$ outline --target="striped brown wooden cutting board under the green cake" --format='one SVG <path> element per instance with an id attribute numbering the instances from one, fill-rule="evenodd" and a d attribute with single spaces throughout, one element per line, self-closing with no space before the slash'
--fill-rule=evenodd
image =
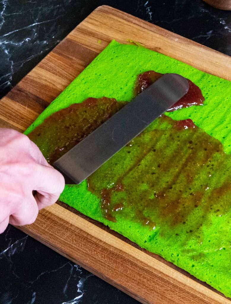
<path id="1" fill-rule="evenodd" d="M 112 39 L 137 41 L 230 80 L 228 56 L 100 6 L 2 98 L 0 127 L 23 132 Z M 209 285 L 62 202 L 41 210 L 34 224 L 19 229 L 142 303 L 231 303 Z"/>

